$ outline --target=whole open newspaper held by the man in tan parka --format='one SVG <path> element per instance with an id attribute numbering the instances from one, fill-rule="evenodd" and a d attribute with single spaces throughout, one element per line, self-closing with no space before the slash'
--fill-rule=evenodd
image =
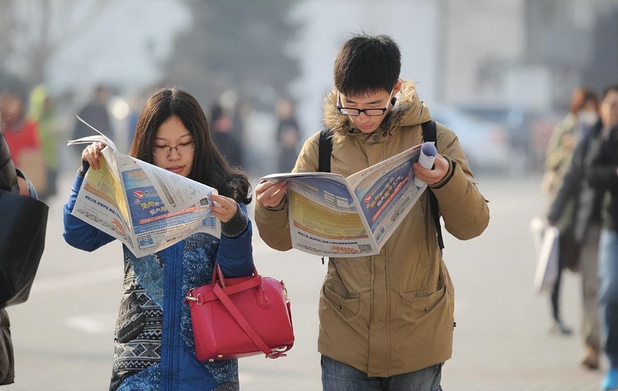
<path id="1" fill-rule="evenodd" d="M 425 144 L 435 149 L 433 143 Z M 427 187 L 423 182 L 415 183 L 412 167 L 422 146 L 413 146 L 347 178 L 330 172 L 263 177 L 289 183 L 292 246 L 320 256 L 379 254 Z"/>

